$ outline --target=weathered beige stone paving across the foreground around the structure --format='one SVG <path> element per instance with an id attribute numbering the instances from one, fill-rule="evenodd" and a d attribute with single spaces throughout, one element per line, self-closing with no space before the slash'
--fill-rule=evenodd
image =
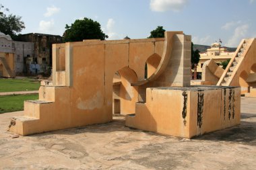
<path id="1" fill-rule="evenodd" d="M 32 136 L 6 132 L 0 114 L 0 169 L 256 169 L 256 99 L 242 97 L 240 126 L 188 140 L 108 124 Z"/>

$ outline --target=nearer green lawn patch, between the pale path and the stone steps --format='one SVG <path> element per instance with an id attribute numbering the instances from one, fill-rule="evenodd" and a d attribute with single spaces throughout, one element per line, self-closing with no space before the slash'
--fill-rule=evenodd
<path id="1" fill-rule="evenodd" d="M 34 99 L 38 99 L 38 94 L 0 96 L 0 114 L 24 110 L 24 101 Z"/>

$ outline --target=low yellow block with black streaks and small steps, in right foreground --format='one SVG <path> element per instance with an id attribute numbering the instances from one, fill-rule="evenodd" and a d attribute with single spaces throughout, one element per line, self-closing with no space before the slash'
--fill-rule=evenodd
<path id="1" fill-rule="evenodd" d="M 191 138 L 240 124 L 239 87 L 158 87 L 126 116 L 126 125 Z"/>

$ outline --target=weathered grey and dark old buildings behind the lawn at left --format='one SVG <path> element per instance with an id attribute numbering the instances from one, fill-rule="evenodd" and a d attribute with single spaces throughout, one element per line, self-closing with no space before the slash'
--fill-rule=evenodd
<path id="1" fill-rule="evenodd" d="M 57 35 L 30 33 L 13 41 L 0 32 L 0 77 L 43 73 L 52 66 L 52 44 L 63 42 Z"/>

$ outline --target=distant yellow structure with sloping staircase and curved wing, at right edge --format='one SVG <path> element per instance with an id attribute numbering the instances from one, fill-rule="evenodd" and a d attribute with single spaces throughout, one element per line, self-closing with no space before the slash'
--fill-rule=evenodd
<path id="1" fill-rule="evenodd" d="M 241 40 L 224 71 L 213 60 L 207 61 L 203 66 L 202 82 L 239 86 L 242 94 L 256 97 L 256 38 Z"/>

